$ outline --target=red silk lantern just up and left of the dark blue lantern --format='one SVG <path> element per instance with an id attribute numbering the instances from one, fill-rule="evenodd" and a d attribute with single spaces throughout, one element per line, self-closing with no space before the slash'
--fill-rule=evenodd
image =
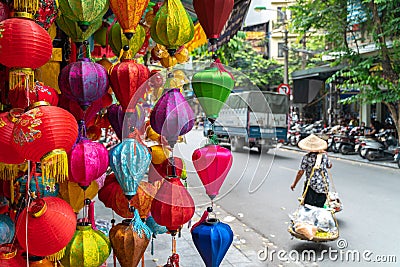
<path id="1" fill-rule="evenodd" d="M 166 178 L 151 204 L 154 220 L 175 235 L 194 214 L 194 202 L 179 178 Z"/>

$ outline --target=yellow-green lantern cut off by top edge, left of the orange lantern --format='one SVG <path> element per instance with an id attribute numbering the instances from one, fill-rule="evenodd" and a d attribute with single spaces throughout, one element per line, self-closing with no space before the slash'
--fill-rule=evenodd
<path id="1" fill-rule="evenodd" d="M 107 0 L 59 0 L 58 3 L 61 14 L 77 22 L 83 32 L 108 10 Z"/>

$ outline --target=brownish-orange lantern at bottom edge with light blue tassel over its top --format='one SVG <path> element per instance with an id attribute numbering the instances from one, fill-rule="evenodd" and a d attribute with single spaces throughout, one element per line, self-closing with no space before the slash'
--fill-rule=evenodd
<path id="1" fill-rule="evenodd" d="M 132 220 L 123 220 L 110 229 L 109 237 L 121 267 L 136 267 L 150 242 L 151 230 L 135 210 Z"/>

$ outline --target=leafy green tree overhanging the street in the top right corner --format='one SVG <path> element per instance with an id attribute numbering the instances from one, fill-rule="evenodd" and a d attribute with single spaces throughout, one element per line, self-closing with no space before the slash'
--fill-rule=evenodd
<path id="1" fill-rule="evenodd" d="M 344 80 L 342 90 L 359 90 L 344 102 L 385 104 L 400 133 L 399 0 L 299 0 L 292 11 L 293 29 L 324 32 L 327 52 L 336 55 L 333 64 L 346 66 L 328 79 Z M 365 32 L 361 39 L 352 35 L 355 23 Z M 376 49 L 366 55 L 362 43 L 368 39 Z"/>

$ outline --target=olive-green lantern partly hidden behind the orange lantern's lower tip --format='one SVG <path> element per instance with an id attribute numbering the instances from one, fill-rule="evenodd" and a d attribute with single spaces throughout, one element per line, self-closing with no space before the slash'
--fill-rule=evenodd
<path id="1" fill-rule="evenodd" d="M 117 22 L 115 23 L 108 34 L 108 44 L 111 47 L 111 50 L 116 56 L 119 56 L 121 53 L 121 49 L 128 45 L 129 49 L 132 52 L 132 55 L 136 55 L 136 53 L 142 47 L 144 40 L 146 38 L 146 30 L 143 28 L 142 25 L 138 25 L 136 27 L 135 34 L 133 37 L 128 40 L 122 32 L 122 28 L 120 24 Z"/>

